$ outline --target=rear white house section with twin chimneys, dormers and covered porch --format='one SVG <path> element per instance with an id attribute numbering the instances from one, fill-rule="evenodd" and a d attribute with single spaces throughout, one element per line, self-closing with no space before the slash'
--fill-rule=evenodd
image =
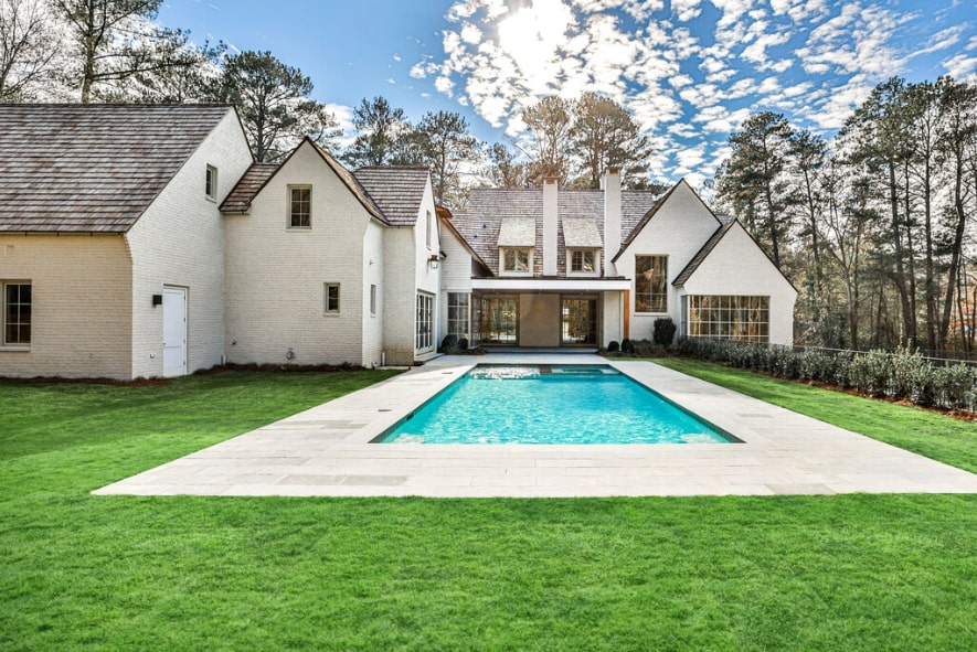
<path id="1" fill-rule="evenodd" d="M 684 181 L 661 196 L 478 189 L 444 214 L 445 332 L 503 346 L 598 346 L 679 335 L 790 344 L 797 291 L 736 222 Z"/>

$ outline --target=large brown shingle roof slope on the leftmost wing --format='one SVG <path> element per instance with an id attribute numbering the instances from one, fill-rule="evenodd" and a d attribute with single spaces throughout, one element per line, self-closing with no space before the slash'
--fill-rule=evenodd
<path id="1" fill-rule="evenodd" d="M 0 105 L 0 232 L 127 232 L 233 110 Z"/>

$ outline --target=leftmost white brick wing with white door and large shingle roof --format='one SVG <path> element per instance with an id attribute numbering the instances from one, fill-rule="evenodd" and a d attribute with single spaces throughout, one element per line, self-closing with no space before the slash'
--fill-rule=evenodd
<path id="1" fill-rule="evenodd" d="M 226 106 L 0 105 L 0 376 L 219 364 L 217 206 L 251 162 Z"/>

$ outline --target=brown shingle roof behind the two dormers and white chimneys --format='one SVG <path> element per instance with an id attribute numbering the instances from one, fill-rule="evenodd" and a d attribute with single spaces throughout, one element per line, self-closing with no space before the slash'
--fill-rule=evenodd
<path id="1" fill-rule="evenodd" d="M 655 203 L 658 195 L 648 191 L 622 191 L 620 232 L 630 235 L 641 217 Z M 562 222 L 564 220 L 586 220 L 604 238 L 604 193 L 599 190 L 565 190 L 556 195 L 561 227 L 556 234 L 557 274 L 565 274 L 566 256 Z M 499 271 L 499 228 L 503 217 L 531 215 L 535 220 L 535 250 L 533 274 L 542 275 L 543 250 L 543 193 L 540 189 L 474 189 L 468 205 L 452 217 L 452 225 L 468 242 L 482 260 L 496 272 Z"/>

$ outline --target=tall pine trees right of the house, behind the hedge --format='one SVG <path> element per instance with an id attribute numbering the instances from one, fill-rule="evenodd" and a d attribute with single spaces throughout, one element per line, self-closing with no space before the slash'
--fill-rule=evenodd
<path id="1" fill-rule="evenodd" d="M 799 290 L 800 343 L 973 352 L 977 86 L 877 86 L 832 140 L 760 113 L 715 180 Z"/>

